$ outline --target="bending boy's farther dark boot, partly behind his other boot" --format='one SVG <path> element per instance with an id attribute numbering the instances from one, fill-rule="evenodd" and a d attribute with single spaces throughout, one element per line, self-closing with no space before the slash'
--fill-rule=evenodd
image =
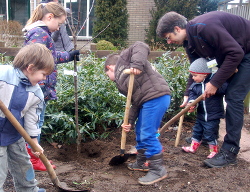
<path id="1" fill-rule="evenodd" d="M 144 155 L 145 153 L 145 149 L 139 149 L 136 155 L 136 161 L 134 163 L 129 163 L 128 164 L 128 169 L 133 170 L 133 171 L 148 171 L 148 165 L 146 163 L 146 155 Z"/>

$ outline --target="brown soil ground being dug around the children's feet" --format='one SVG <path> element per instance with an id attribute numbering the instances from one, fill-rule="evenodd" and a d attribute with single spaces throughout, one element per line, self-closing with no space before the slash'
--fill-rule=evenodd
<path id="1" fill-rule="evenodd" d="M 203 164 L 209 153 L 207 147 L 201 146 L 195 154 L 181 150 L 181 146 L 186 145 L 185 137 L 191 135 L 191 126 L 191 123 L 184 122 L 178 147 L 174 147 L 176 131 L 173 128 L 168 129 L 161 138 L 168 178 L 150 186 L 137 183 L 137 179 L 145 173 L 126 168 L 126 163 L 134 161 L 134 156 L 125 164 L 109 166 L 112 157 L 119 155 L 120 130 L 113 133 L 109 140 L 82 143 L 78 159 L 75 145 L 55 148 L 43 143 L 42 146 L 44 154 L 57 166 L 59 180 L 73 189 L 89 189 L 91 192 L 249 191 L 249 162 L 239 158 L 238 164 L 234 166 L 208 168 Z M 249 131 L 249 115 L 245 117 L 245 127 Z M 134 133 L 129 133 L 127 148 L 133 145 Z M 47 192 L 57 191 L 47 172 L 36 172 L 36 178 L 39 187 L 47 189 Z M 10 176 L 6 180 L 5 190 L 14 191 Z"/>

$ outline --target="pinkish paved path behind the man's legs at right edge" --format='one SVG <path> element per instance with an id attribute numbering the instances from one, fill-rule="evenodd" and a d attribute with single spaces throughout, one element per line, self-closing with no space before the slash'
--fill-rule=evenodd
<path id="1" fill-rule="evenodd" d="M 220 134 L 219 141 L 223 141 L 224 136 L 226 134 L 225 119 L 221 119 L 220 121 L 219 134 Z M 244 127 L 242 128 L 241 132 L 240 153 L 238 157 L 250 162 L 250 132 L 247 131 L 246 128 Z"/>

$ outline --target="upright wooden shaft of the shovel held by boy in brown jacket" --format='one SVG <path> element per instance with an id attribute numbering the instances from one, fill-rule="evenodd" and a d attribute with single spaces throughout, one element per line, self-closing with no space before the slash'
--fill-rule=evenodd
<path id="1" fill-rule="evenodd" d="M 128 116 L 129 116 L 129 110 L 130 110 L 130 105 L 131 105 L 131 97 L 132 97 L 132 92 L 133 92 L 134 79 L 135 79 L 135 75 L 133 73 L 130 73 L 127 101 L 126 101 L 126 107 L 125 107 L 125 113 L 124 113 L 124 119 L 123 119 L 123 123 L 125 125 L 128 125 Z M 126 137 L 127 137 L 127 133 L 122 129 L 121 154 L 125 153 Z"/>

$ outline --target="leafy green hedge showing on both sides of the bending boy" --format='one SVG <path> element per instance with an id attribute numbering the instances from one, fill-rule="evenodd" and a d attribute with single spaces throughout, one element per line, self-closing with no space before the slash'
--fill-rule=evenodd
<path id="1" fill-rule="evenodd" d="M 93 55 L 81 58 L 78 64 L 78 104 L 79 128 L 83 139 L 106 138 L 123 121 L 126 98 L 115 83 L 104 73 L 103 59 Z M 166 118 L 180 111 L 183 92 L 188 78 L 188 60 L 185 55 L 170 57 L 167 52 L 153 63 L 169 83 L 172 102 Z M 43 134 L 50 142 L 75 142 L 75 98 L 73 76 L 64 75 L 64 70 L 72 70 L 71 63 L 58 67 L 58 100 L 50 101 L 46 109 Z M 42 137 L 43 138 L 43 137 Z"/>

